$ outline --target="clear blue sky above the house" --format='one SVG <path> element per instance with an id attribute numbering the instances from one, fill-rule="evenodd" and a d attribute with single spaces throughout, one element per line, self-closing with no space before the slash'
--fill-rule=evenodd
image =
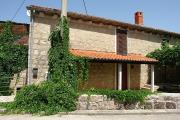
<path id="1" fill-rule="evenodd" d="M 0 0 L 0 20 L 11 20 L 23 0 Z M 85 0 L 89 15 L 134 23 L 134 13 L 144 13 L 144 26 L 180 32 L 180 0 Z M 29 23 L 26 6 L 61 8 L 61 0 L 25 0 L 13 19 Z M 84 13 L 83 0 L 68 0 L 68 11 Z"/>

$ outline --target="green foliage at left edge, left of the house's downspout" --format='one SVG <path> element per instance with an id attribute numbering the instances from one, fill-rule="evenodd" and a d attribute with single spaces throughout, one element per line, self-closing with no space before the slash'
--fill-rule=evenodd
<path id="1" fill-rule="evenodd" d="M 14 44 L 19 36 L 12 33 L 11 26 L 5 23 L 0 33 L 0 95 L 11 93 L 9 85 L 13 75 L 27 67 L 28 47 Z"/>

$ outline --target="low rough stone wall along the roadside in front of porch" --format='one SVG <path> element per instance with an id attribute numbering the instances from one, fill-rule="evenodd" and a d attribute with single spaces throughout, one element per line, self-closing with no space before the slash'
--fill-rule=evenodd
<path id="1" fill-rule="evenodd" d="M 180 109 L 180 95 L 151 95 L 144 103 L 122 104 L 103 95 L 81 95 L 78 110 L 133 110 L 133 109 Z"/>

